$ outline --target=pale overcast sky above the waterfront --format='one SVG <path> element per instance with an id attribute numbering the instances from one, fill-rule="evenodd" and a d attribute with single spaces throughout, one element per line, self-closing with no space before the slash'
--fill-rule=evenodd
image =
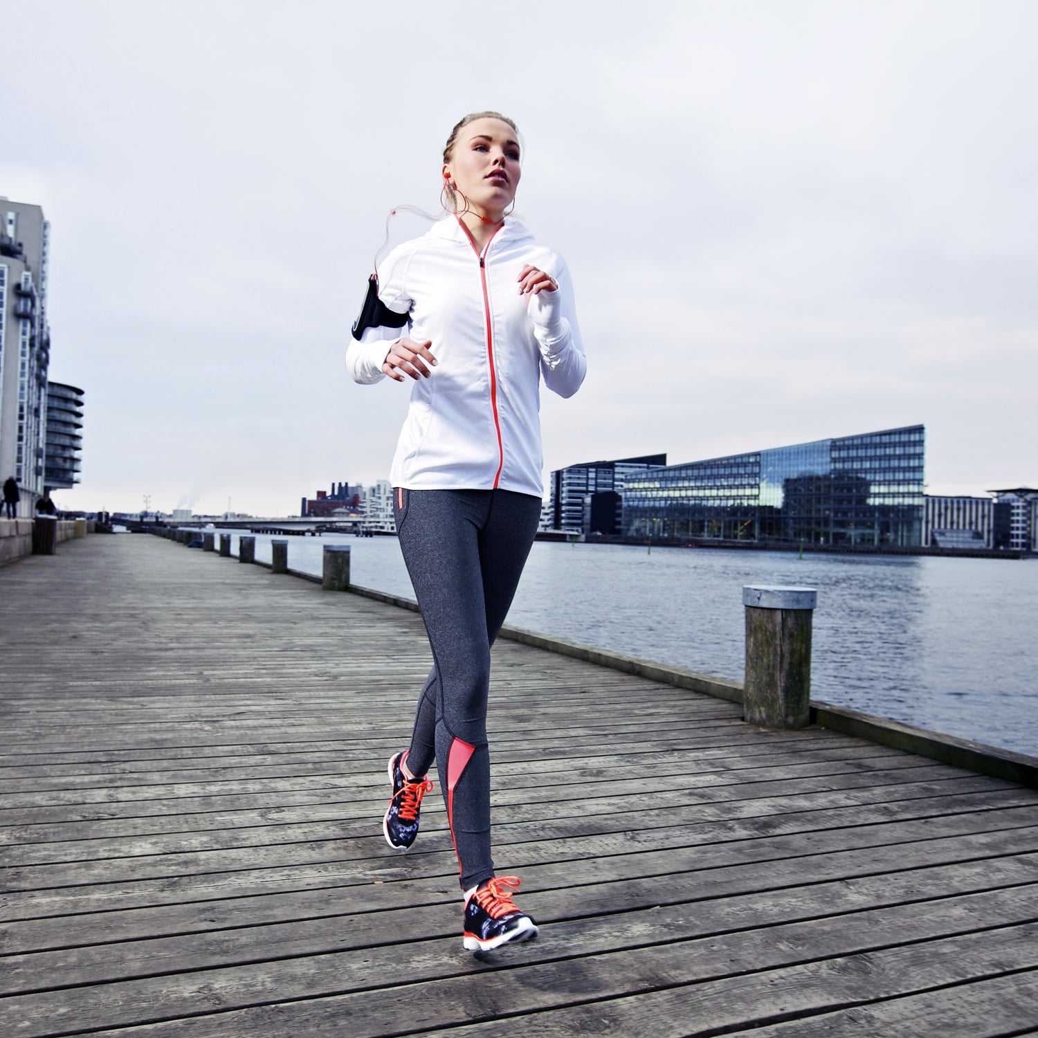
<path id="1" fill-rule="evenodd" d="M 929 493 L 1038 486 L 1035 38 L 1030 0 L 0 0 L 0 195 L 51 222 L 85 390 L 55 500 L 387 477 L 409 390 L 350 379 L 350 327 L 485 109 L 588 353 L 546 474 L 922 422 Z"/>

